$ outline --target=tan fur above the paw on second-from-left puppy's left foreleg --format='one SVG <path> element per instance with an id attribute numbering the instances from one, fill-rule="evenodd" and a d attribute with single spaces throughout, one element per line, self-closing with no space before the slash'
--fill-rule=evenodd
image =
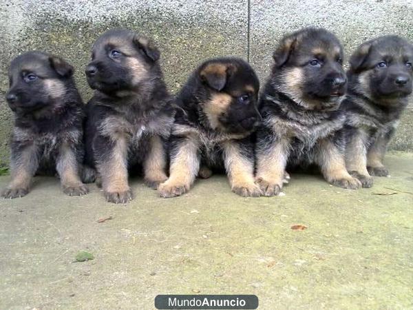
<path id="1" fill-rule="evenodd" d="M 127 192 L 127 138 L 119 136 L 109 161 L 98 165 L 98 172 L 102 176 L 102 187 L 105 192 Z"/>

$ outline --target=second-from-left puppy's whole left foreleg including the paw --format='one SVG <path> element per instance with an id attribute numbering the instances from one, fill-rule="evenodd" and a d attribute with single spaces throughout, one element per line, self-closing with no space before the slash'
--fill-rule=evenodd
<path id="1" fill-rule="evenodd" d="M 128 184 L 127 138 L 118 136 L 114 146 L 97 165 L 102 188 L 109 203 L 127 203 L 133 194 Z"/>

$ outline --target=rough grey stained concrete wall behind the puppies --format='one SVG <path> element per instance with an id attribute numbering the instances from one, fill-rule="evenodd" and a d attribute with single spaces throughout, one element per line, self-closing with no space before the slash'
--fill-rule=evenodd
<path id="1" fill-rule="evenodd" d="M 380 34 L 400 34 L 413 41 L 412 0 L 0 0 L 0 8 L 0 165 L 8 163 L 12 127 L 4 101 L 8 63 L 26 50 L 44 50 L 70 61 L 87 101 L 92 92 L 83 70 L 90 47 L 99 34 L 114 27 L 156 41 L 173 92 L 200 61 L 213 56 L 247 59 L 264 81 L 279 38 L 306 25 L 335 32 L 346 52 Z M 412 120 L 413 110 L 408 110 L 393 149 L 413 149 Z"/>

